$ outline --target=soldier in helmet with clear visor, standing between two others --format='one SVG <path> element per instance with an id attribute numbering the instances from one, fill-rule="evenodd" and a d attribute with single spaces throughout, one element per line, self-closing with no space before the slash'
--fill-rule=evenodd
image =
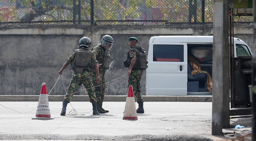
<path id="1" fill-rule="evenodd" d="M 105 71 L 107 69 L 109 69 L 109 66 L 110 66 L 110 57 L 111 56 L 110 56 L 109 50 L 112 48 L 113 43 L 114 43 L 113 38 L 110 35 L 105 35 L 102 37 L 101 43 L 98 43 L 97 46 L 92 49 L 92 51 L 96 55 L 96 59 L 99 64 L 99 77 L 101 78 L 100 83 L 97 84 L 96 78 L 98 78 L 98 76 L 96 76 L 96 73 L 93 73 L 92 74 L 93 86 L 103 84 L 101 86 L 97 86 L 94 88 L 94 92 L 95 92 L 96 98 L 97 98 L 97 110 L 99 113 L 109 112 L 108 110 L 104 110 L 102 108 L 102 103 L 103 103 L 104 95 L 105 95 L 104 75 L 105 75 Z"/>

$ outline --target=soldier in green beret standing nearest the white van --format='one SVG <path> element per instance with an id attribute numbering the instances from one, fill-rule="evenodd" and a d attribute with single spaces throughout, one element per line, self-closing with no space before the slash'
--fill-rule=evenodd
<path id="1" fill-rule="evenodd" d="M 128 67 L 128 88 L 132 86 L 133 93 L 137 98 L 139 105 L 136 110 L 137 113 L 144 113 L 143 99 L 141 96 L 141 78 L 143 70 L 147 68 L 147 54 L 146 50 L 138 46 L 138 39 L 130 37 L 128 39 L 130 50 L 127 52 L 127 60 L 124 61 L 124 66 Z"/>

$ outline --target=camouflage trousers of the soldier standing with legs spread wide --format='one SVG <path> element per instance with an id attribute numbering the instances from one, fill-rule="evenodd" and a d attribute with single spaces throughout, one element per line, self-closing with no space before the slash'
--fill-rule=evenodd
<path id="1" fill-rule="evenodd" d="M 91 80 L 91 73 L 88 72 L 87 70 L 85 70 L 84 73 L 73 72 L 72 78 L 70 80 L 70 84 L 68 86 L 68 91 L 67 91 L 63 101 L 70 102 L 74 95 L 71 93 L 76 92 L 76 89 L 79 88 L 79 86 L 81 84 L 83 84 L 84 87 L 87 89 L 86 91 L 89 95 L 90 102 L 96 101 L 96 96 L 95 96 L 93 89 L 88 89 L 88 88 L 92 88 L 93 85 L 92 85 L 92 80 Z"/>

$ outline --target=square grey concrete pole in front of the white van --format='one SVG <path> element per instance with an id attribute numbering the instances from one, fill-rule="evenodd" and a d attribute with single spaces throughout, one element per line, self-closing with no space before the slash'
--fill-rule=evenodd
<path id="1" fill-rule="evenodd" d="M 222 134 L 229 119 L 229 5 L 214 0 L 212 135 Z"/>

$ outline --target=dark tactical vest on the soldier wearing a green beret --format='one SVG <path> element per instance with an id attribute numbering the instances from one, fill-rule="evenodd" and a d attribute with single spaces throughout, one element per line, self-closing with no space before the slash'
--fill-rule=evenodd
<path id="1" fill-rule="evenodd" d="M 147 53 L 146 50 L 140 46 L 131 46 L 132 50 L 136 52 L 136 61 L 133 65 L 133 69 L 146 69 L 147 67 Z M 129 50 L 130 51 L 130 50 Z M 130 60 L 129 51 L 127 52 L 127 60 Z M 127 61 L 128 68 L 130 67 L 131 61 Z"/>

